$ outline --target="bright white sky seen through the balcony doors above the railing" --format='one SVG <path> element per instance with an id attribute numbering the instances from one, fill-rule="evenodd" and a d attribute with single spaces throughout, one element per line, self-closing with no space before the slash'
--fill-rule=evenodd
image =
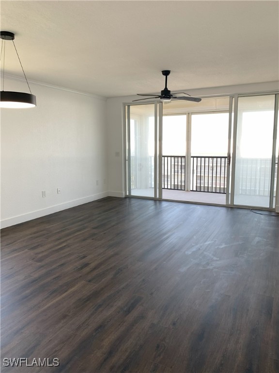
<path id="1" fill-rule="evenodd" d="M 191 155 L 227 156 L 229 114 L 192 114 L 191 120 Z M 271 158 L 273 120 L 273 111 L 239 114 L 236 157 Z M 130 124 L 131 155 L 134 155 L 135 121 L 132 119 Z M 154 117 L 149 117 L 145 136 L 149 137 L 149 155 L 154 155 Z M 163 117 L 163 155 L 186 155 L 186 115 Z"/>

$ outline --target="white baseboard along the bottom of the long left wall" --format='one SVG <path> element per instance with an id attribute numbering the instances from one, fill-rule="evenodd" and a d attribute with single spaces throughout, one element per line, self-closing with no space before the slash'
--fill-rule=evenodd
<path id="1" fill-rule="evenodd" d="M 24 221 L 41 218 L 43 216 L 53 214 L 54 212 L 66 210 L 67 208 L 75 207 L 80 204 L 100 200 L 101 198 L 109 197 L 109 195 L 110 195 L 109 192 L 93 194 L 88 197 L 78 198 L 77 200 L 56 204 L 54 206 L 42 208 L 41 210 L 32 211 L 32 212 L 28 212 L 27 214 L 14 216 L 13 218 L 4 219 L 4 220 L 1 220 L 0 222 L 1 228 L 10 227 L 11 225 L 23 223 Z"/>

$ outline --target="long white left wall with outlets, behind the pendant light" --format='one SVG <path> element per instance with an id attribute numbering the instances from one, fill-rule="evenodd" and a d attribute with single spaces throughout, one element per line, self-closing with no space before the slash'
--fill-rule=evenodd
<path id="1" fill-rule="evenodd" d="M 5 85 L 27 91 L 23 82 Z M 108 195 L 106 99 L 34 84 L 31 91 L 37 107 L 1 109 L 1 227 Z"/>

